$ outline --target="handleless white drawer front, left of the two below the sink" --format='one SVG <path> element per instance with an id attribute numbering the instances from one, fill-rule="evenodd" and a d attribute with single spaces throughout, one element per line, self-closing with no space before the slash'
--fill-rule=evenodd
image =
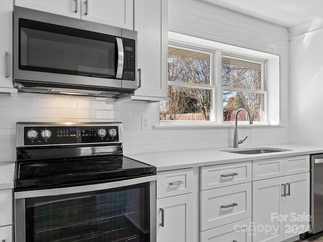
<path id="1" fill-rule="evenodd" d="M 284 175 L 284 159 L 254 160 L 252 162 L 252 180 L 262 180 Z"/>

